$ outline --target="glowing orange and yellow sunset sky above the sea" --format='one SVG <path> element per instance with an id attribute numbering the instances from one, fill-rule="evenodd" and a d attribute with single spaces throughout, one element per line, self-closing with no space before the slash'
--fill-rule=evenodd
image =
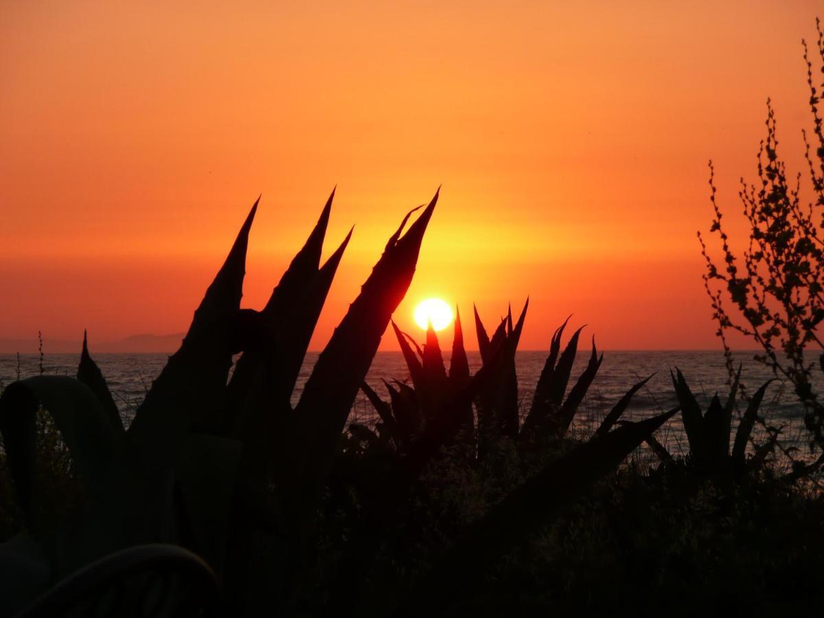
<path id="1" fill-rule="evenodd" d="M 707 162 L 743 238 L 768 96 L 802 169 L 821 9 L 0 2 L 0 338 L 185 331 L 258 194 L 243 305 L 260 308 L 337 185 L 325 253 L 355 228 L 321 349 L 442 184 L 405 330 L 423 338 L 426 297 L 491 326 L 528 296 L 522 349 L 569 314 L 604 349 L 718 349 Z"/>

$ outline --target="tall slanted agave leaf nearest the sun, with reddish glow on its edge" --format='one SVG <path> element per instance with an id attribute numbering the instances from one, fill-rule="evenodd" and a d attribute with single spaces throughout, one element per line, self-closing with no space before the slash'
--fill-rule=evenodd
<path id="1" fill-rule="evenodd" d="M 304 482 L 314 487 L 316 494 L 392 311 L 412 281 L 421 241 L 437 203 L 438 193 L 404 236 L 399 229 L 390 239 L 303 389 L 296 412 L 310 444 L 302 453 L 302 467 L 308 477 Z"/>

